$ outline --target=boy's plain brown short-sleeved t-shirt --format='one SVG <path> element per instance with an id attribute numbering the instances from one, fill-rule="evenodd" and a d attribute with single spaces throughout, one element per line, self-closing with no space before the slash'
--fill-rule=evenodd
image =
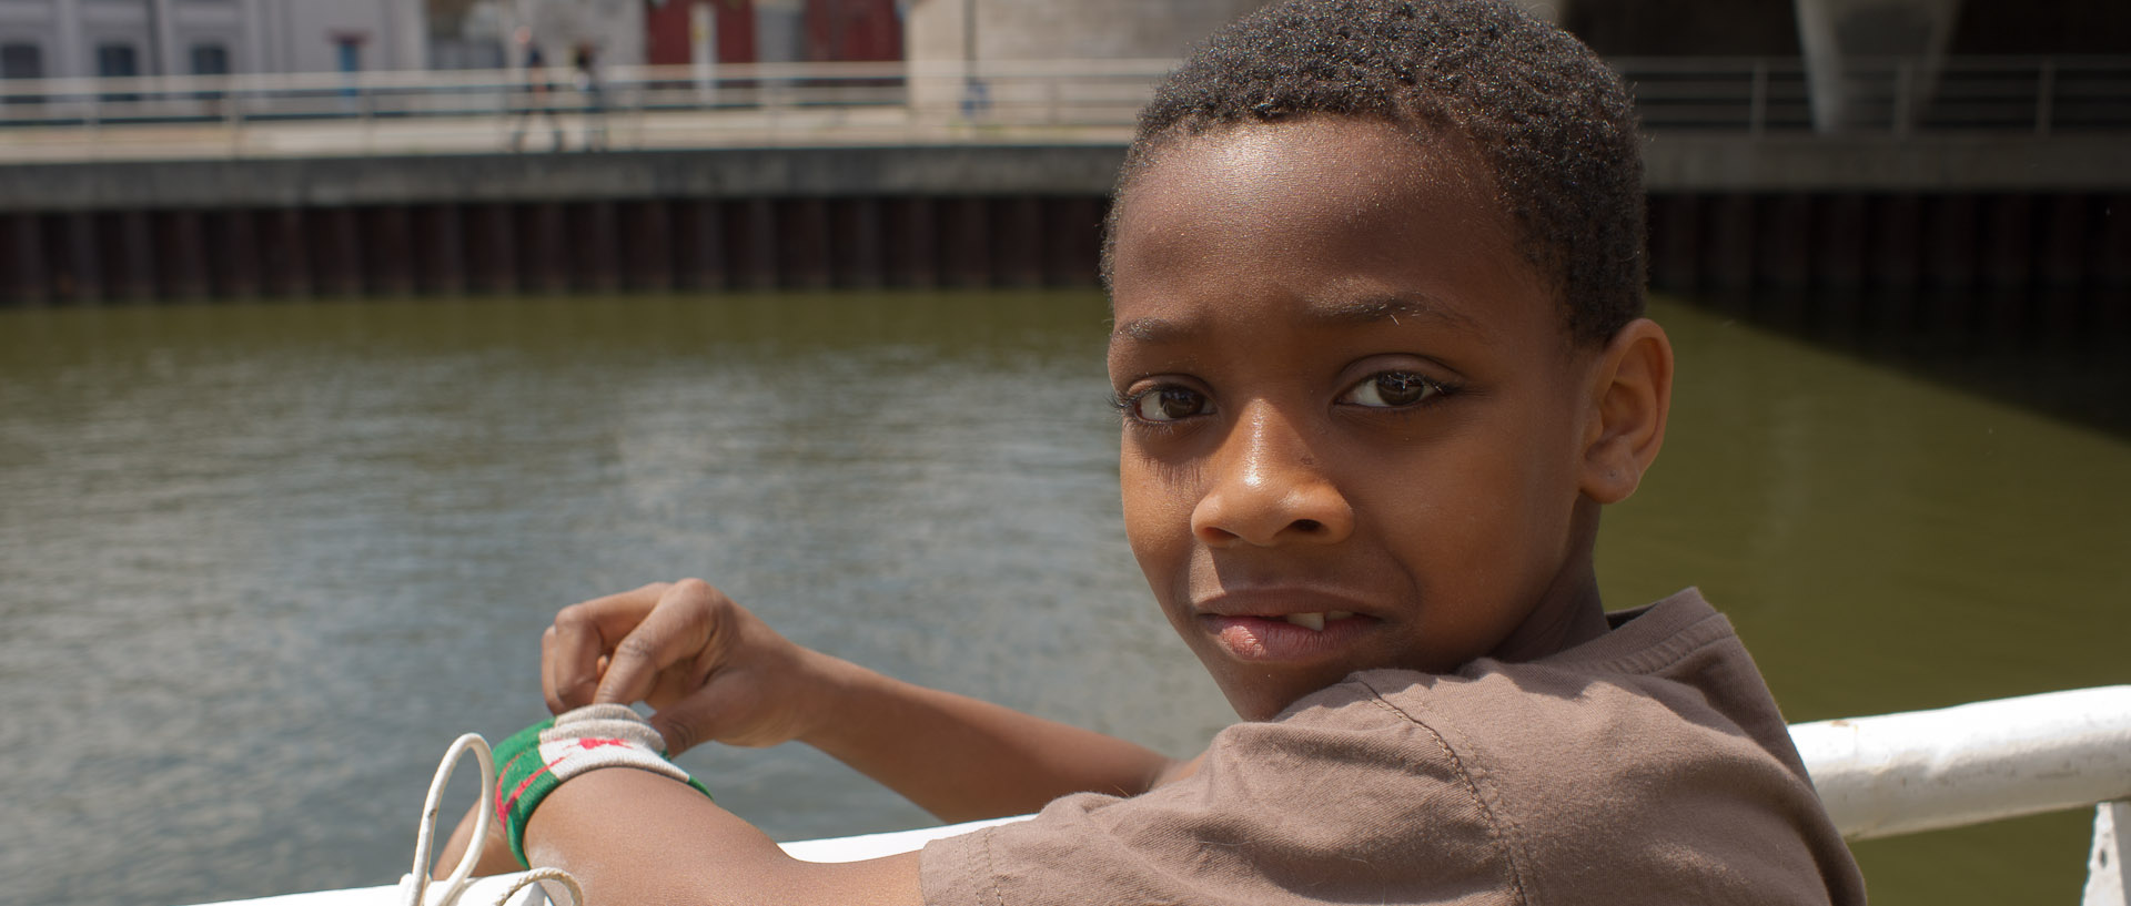
<path id="1" fill-rule="evenodd" d="M 931 906 L 1862 904 L 1730 621 L 1688 589 L 1530 664 L 1368 670 L 1195 776 L 933 840 Z"/>

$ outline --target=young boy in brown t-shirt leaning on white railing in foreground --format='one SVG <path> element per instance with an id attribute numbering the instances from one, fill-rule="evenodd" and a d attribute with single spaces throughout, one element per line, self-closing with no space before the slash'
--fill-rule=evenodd
<path id="1" fill-rule="evenodd" d="M 556 785 L 524 853 L 614 904 L 1862 902 L 1724 617 L 1598 602 L 1673 379 L 1637 149 L 1617 77 L 1507 2 L 1232 26 L 1142 115 L 1106 276 L 1132 549 L 1245 723 L 1170 761 L 652 585 L 556 617 L 550 708 L 1042 812 L 814 866 L 652 764 Z"/>

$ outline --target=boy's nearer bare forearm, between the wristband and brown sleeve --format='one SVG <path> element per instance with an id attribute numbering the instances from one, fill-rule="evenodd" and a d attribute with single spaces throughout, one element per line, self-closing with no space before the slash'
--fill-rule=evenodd
<path id="1" fill-rule="evenodd" d="M 629 768 L 556 787 L 526 825 L 526 857 L 571 872 L 590 904 L 921 902 L 916 853 L 799 861 L 695 789 Z"/>

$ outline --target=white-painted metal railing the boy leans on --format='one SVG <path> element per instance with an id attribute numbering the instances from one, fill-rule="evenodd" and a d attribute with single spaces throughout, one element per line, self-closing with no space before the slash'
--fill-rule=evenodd
<path id="1" fill-rule="evenodd" d="M 2131 906 L 2125 859 L 2131 857 L 2131 685 L 1961 704 L 1941 710 L 1799 723 L 1790 736 L 1805 757 L 1835 827 L 1850 840 L 1975 825 L 2065 808 L 2095 808 L 2080 906 Z M 482 757 L 486 759 L 486 746 Z M 450 774 L 458 749 L 437 772 Z M 486 768 L 492 774 L 492 766 Z M 492 787 L 492 778 L 488 781 Z M 428 821 L 435 821 L 437 789 Z M 786 842 L 808 861 L 857 861 L 908 853 L 927 840 L 1023 821 L 997 819 L 837 840 Z M 428 825 L 418 859 L 428 857 Z M 1869 880 L 1869 878 L 1867 878 Z M 569 895 L 546 880 L 556 902 Z M 296 893 L 222 906 L 424 906 L 539 904 L 541 876 L 505 874 L 469 885 Z"/>

